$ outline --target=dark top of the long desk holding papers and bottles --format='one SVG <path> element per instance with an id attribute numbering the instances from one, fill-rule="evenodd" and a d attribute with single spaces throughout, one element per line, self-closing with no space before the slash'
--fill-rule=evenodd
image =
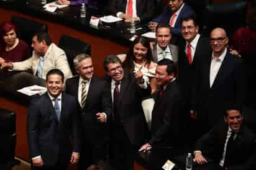
<path id="1" fill-rule="evenodd" d="M 89 34 L 99 35 L 100 37 L 108 38 L 109 40 L 113 40 L 122 45 L 129 45 L 129 38 L 134 35 L 129 33 L 129 30 L 127 30 L 129 24 L 125 23 L 124 20 L 114 22 L 112 24 L 100 22 L 98 28 L 91 27 L 89 25 L 91 16 L 102 16 L 102 11 L 99 10 L 88 8 L 86 11 L 86 17 L 80 18 L 80 6 L 64 7 L 63 9 L 57 9 L 53 13 L 45 11 L 40 0 L 0 1 L 0 6 L 16 10 L 24 14 L 29 14 L 30 16 L 40 17 L 40 19 L 58 22 L 68 27 L 88 32 Z M 135 33 L 136 35 L 149 31 L 147 24 L 137 23 L 136 28 L 139 27 L 142 27 L 143 29 L 137 30 Z"/>

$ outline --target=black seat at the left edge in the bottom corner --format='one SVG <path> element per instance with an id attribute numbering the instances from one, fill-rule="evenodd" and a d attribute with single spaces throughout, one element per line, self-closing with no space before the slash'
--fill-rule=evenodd
<path id="1" fill-rule="evenodd" d="M 16 146 L 16 115 L 11 110 L 0 109 L 0 169 L 11 170 L 20 162 L 14 159 Z"/>

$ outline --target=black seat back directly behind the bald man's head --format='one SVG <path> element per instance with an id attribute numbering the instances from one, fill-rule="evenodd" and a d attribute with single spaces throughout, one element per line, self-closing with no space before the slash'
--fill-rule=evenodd
<path id="1" fill-rule="evenodd" d="M 205 10 L 204 34 L 208 36 L 214 28 L 222 27 L 230 37 L 235 30 L 246 23 L 247 2 L 245 1 L 209 4 Z"/>

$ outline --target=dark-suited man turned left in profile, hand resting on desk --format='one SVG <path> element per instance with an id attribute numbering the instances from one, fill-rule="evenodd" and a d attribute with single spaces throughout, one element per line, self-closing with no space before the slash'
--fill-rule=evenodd
<path id="1" fill-rule="evenodd" d="M 154 146 L 181 146 L 183 99 L 176 81 L 175 63 L 160 60 L 155 78 L 160 90 L 152 111 L 152 136 L 139 151 L 149 151 Z"/>

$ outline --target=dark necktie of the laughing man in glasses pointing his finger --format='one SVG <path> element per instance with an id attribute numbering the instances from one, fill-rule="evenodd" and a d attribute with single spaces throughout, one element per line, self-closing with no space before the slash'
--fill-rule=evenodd
<path id="1" fill-rule="evenodd" d="M 113 113 L 114 113 L 114 123 L 115 124 L 120 124 L 120 115 L 119 115 L 119 104 L 120 104 L 120 97 L 119 97 L 119 84 L 120 82 L 119 81 L 116 81 L 115 83 L 115 88 L 114 88 L 114 99 L 113 99 L 113 102 L 114 102 L 114 108 L 113 108 Z"/>

